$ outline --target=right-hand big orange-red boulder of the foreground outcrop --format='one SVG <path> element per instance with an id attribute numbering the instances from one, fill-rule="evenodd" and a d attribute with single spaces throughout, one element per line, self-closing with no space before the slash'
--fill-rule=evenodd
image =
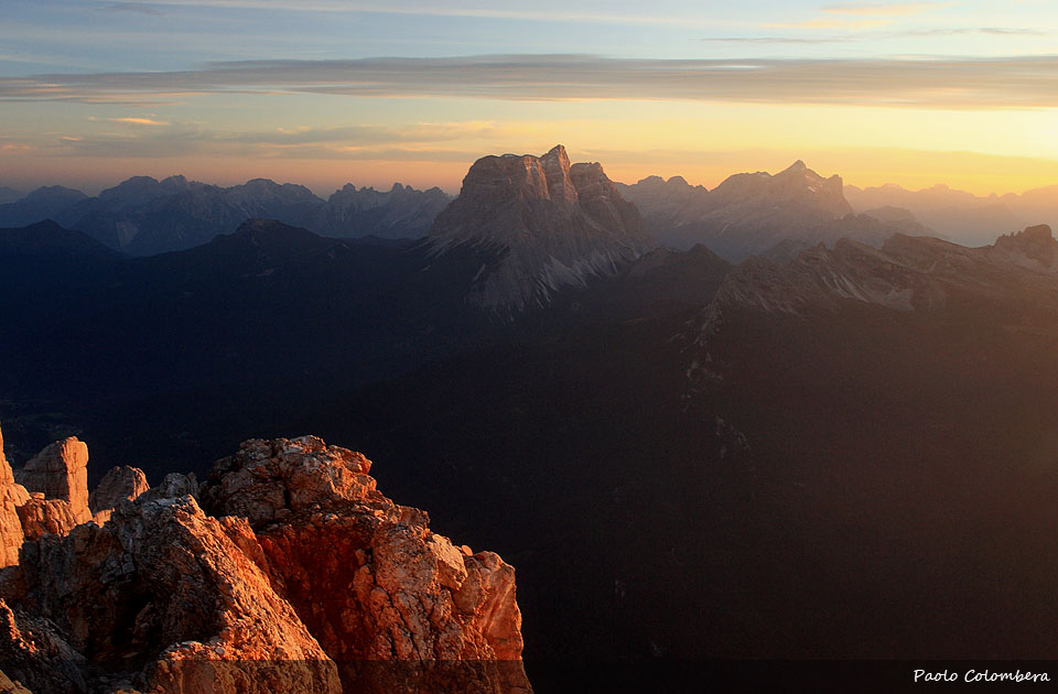
<path id="1" fill-rule="evenodd" d="M 203 502 L 250 519 L 268 570 L 347 685 L 528 691 L 514 568 L 432 533 L 425 512 L 376 489 L 370 466 L 314 436 L 249 441 L 217 463 Z"/>

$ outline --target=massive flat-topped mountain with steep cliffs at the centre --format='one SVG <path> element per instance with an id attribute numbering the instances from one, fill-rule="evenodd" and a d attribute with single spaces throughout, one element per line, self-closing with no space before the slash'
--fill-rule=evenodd
<path id="1" fill-rule="evenodd" d="M 612 274 L 654 246 L 603 167 L 571 164 L 561 144 L 541 156 L 477 160 L 430 237 L 440 250 L 474 243 L 503 253 L 497 268 L 483 268 L 474 301 L 507 315 L 547 304 L 562 286 Z"/>

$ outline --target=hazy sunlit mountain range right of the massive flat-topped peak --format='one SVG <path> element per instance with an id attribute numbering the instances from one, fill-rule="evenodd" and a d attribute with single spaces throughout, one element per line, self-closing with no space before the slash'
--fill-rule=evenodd
<path id="1" fill-rule="evenodd" d="M 1029 225 L 1058 226 L 1058 185 L 987 197 L 946 185 L 860 188 L 842 186 L 838 176 L 823 178 L 802 162 L 775 175 L 736 174 L 712 191 L 680 176 L 617 186 L 659 242 L 678 249 L 705 243 L 736 262 L 749 256 L 789 259 L 839 238 L 877 247 L 905 234 L 982 246 Z"/>

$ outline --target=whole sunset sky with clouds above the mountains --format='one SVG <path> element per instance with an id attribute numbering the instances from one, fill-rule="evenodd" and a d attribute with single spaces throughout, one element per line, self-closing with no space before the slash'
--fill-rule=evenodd
<path id="1" fill-rule="evenodd" d="M 456 193 L 564 144 L 713 187 L 1058 184 L 1054 0 L 4 0 L 0 185 Z"/>

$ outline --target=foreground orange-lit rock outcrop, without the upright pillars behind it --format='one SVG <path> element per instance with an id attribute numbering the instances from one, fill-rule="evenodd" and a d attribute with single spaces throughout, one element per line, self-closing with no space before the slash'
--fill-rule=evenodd
<path id="1" fill-rule="evenodd" d="M 248 441 L 201 487 L 129 498 L 138 470 L 112 471 L 102 524 L 26 533 L 0 572 L 0 691 L 530 692 L 514 568 L 370 466 L 304 436 Z"/>

